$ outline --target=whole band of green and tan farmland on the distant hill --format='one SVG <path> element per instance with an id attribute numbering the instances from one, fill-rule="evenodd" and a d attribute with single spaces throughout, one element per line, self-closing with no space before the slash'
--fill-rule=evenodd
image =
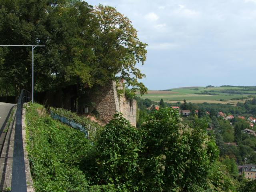
<path id="1" fill-rule="evenodd" d="M 230 92 L 235 93 L 230 93 Z M 239 94 L 236 93 L 239 91 Z M 216 95 L 210 95 L 216 94 Z M 202 103 L 230 103 L 235 104 L 238 101 L 244 100 L 231 100 L 233 98 L 242 98 L 248 96 L 256 96 L 256 88 L 254 87 L 184 87 L 173 88 L 167 90 L 149 90 L 148 94 L 142 96 L 142 98 L 149 98 L 152 101 L 159 102 L 160 99 L 164 99 L 165 102 L 177 102 L 186 99 L 188 102 Z M 140 96 L 137 94 L 137 96 Z M 221 101 L 220 101 L 221 100 Z"/>

